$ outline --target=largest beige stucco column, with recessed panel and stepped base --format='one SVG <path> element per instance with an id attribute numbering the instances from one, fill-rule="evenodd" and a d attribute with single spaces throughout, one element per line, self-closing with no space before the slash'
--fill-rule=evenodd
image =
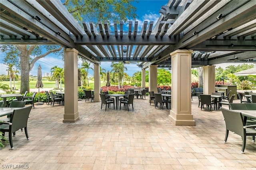
<path id="1" fill-rule="evenodd" d="M 172 56 L 172 109 L 169 119 L 174 125 L 195 126 L 191 114 L 191 53 L 178 49 Z"/>

